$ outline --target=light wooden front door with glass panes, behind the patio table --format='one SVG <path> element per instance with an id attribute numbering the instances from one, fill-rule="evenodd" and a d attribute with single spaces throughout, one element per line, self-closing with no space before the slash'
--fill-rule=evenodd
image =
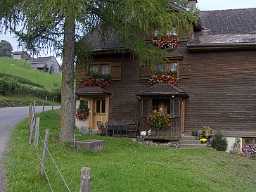
<path id="1" fill-rule="evenodd" d="M 97 129 L 97 121 L 105 124 L 108 121 L 108 97 L 94 98 L 94 129 Z"/>

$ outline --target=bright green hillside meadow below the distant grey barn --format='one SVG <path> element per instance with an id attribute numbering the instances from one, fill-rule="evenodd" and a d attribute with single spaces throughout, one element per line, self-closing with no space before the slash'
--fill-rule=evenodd
<path id="1" fill-rule="evenodd" d="M 46 89 L 53 89 L 54 84 L 61 84 L 61 75 L 51 75 L 46 72 L 30 70 L 31 63 L 25 60 L 1 57 L 0 72 L 29 79 L 34 83 L 44 85 Z"/>

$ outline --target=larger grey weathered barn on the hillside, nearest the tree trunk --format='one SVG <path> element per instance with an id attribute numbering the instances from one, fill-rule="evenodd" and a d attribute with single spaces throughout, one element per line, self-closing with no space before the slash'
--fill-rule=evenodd
<path id="1" fill-rule="evenodd" d="M 31 61 L 32 70 L 40 70 L 44 72 L 49 72 L 52 75 L 58 75 L 60 72 L 60 65 L 55 57 L 40 57 L 33 58 Z"/>

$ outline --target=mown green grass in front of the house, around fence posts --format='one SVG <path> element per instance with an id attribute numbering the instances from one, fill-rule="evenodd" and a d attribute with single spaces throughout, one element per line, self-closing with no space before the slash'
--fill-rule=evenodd
<path id="1" fill-rule="evenodd" d="M 97 192 L 255 191 L 255 160 L 210 149 L 143 146 L 130 139 L 92 134 L 77 139 L 103 139 L 103 151 L 74 150 L 72 144 L 58 143 L 60 110 L 39 117 L 41 136 L 51 130 L 49 150 L 71 191 L 79 191 L 81 167 L 91 167 L 91 191 Z M 27 120 L 23 120 L 13 131 L 4 157 L 8 191 L 50 191 L 28 137 Z M 42 142 L 38 148 L 41 156 Z M 67 191 L 49 155 L 46 172 L 53 191 Z"/>

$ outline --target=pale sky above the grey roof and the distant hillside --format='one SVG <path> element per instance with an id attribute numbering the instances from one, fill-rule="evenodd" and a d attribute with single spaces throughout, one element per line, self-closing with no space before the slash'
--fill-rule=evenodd
<path id="1" fill-rule="evenodd" d="M 256 0 L 198 0 L 197 4 L 200 11 L 210 10 L 223 10 L 233 8 L 256 8 Z M 23 51 L 22 48 L 18 48 L 18 41 L 9 33 L 0 34 L 0 40 L 6 40 L 13 46 L 13 51 Z M 54 56 L 54 53 L 41 53 L 41 56 Z M 61 64 L 61 58 L 56 58 L 58 63 Z"/>

